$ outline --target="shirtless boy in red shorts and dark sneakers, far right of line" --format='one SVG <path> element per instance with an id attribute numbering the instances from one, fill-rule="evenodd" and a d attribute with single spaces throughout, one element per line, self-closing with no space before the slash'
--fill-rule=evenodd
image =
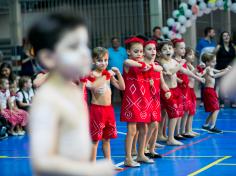
<path id="1" fill-rule="evenodd" d="M 216 120 L 219 114 L 220 106 L 218 96 L 214 89 L 215 79 L 224 76 L 231 70 L 231 66 L 228 66 L 223 70 L 216 70 L 216 56 L 211 53 L 204 53 L 202 55 L 202 61 L 206 64 L 204 77 L 206 79 L 205 88 L 203 91 L 203 102 L 206 112 L 210 112 L 206 119 L 203 129 L 212 133 L 222 133 L 222 130 L 216 128 Z"/>

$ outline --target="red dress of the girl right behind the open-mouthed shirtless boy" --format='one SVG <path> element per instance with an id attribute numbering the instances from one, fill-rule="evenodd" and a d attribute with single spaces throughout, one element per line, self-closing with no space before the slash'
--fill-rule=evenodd
<path id="1" fill-rule="evenodd" d="M 187 64 L 185 63 L 183 65 L 184 68 L 187 69 Z M 180 102 L 180 108 L 182 108 L 183 112 L 181 112 L 181 116 L 184 115 L 184 112 L 189 112 L 189 79 L 186 74 L 181 73 L 180 71 L 177 72 L 177 77 L 181 79 L 183 82 L 180 84 L 178 83 L 178 87 L 181 90 L 181 97 L 182 97 L 182 102 Z"/>

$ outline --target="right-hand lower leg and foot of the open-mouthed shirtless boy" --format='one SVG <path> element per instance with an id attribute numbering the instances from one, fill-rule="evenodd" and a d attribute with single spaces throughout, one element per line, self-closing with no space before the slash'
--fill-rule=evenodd
<path id="1" fill-rule="evenodd" d="M 175 132 L 175 127 L 177 123 L 178 118 L 173 118 L 169 119 L 169 124 L 168 124 L 168 145 L 183 145 L 182 142 L 179 142 L 175 140 L 174 138 L 174 132 Z"/>

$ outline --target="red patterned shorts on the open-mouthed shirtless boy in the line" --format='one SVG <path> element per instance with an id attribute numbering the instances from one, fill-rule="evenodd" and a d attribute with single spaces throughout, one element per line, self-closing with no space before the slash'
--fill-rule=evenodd
<path id="1" fill-rule="evenodd" d="M 170 89 L 171 97 L 164 100 L 164 107 L 170 119 L 180 118 L 183 116 L 183 100 L 181 97 L 181 90 L 176 87 Z"/>

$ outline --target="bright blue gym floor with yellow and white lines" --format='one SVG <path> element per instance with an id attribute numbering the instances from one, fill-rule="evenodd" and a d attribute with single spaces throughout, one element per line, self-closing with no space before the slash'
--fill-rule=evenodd
<path id="1" fill-rule="evenodd" d="M 119 108 L 115 108 L 118 138 L 111 141 L 113 161 L 123 167 L 126 124 L 119 121 Z M 194 118 L 194 129 L 199 137 L 184 141 L 180 147 L 165 146 L 158 149 L 164 157 L 155 164 L 143 164 L 140 168 L 125 168 L 118 176 L 184 176 L 184 175 L 236 175 L 236 109 L 222 109 L 217 127 L 223 134 L 209 134 L 200 129 L 207 114 L 198 108 Z M 29 156 L 29 138 L 9 137 L 0 141 L 0 176 L 32 175 Z M 98 159 L 102 158 L 101 147 Z"/>

